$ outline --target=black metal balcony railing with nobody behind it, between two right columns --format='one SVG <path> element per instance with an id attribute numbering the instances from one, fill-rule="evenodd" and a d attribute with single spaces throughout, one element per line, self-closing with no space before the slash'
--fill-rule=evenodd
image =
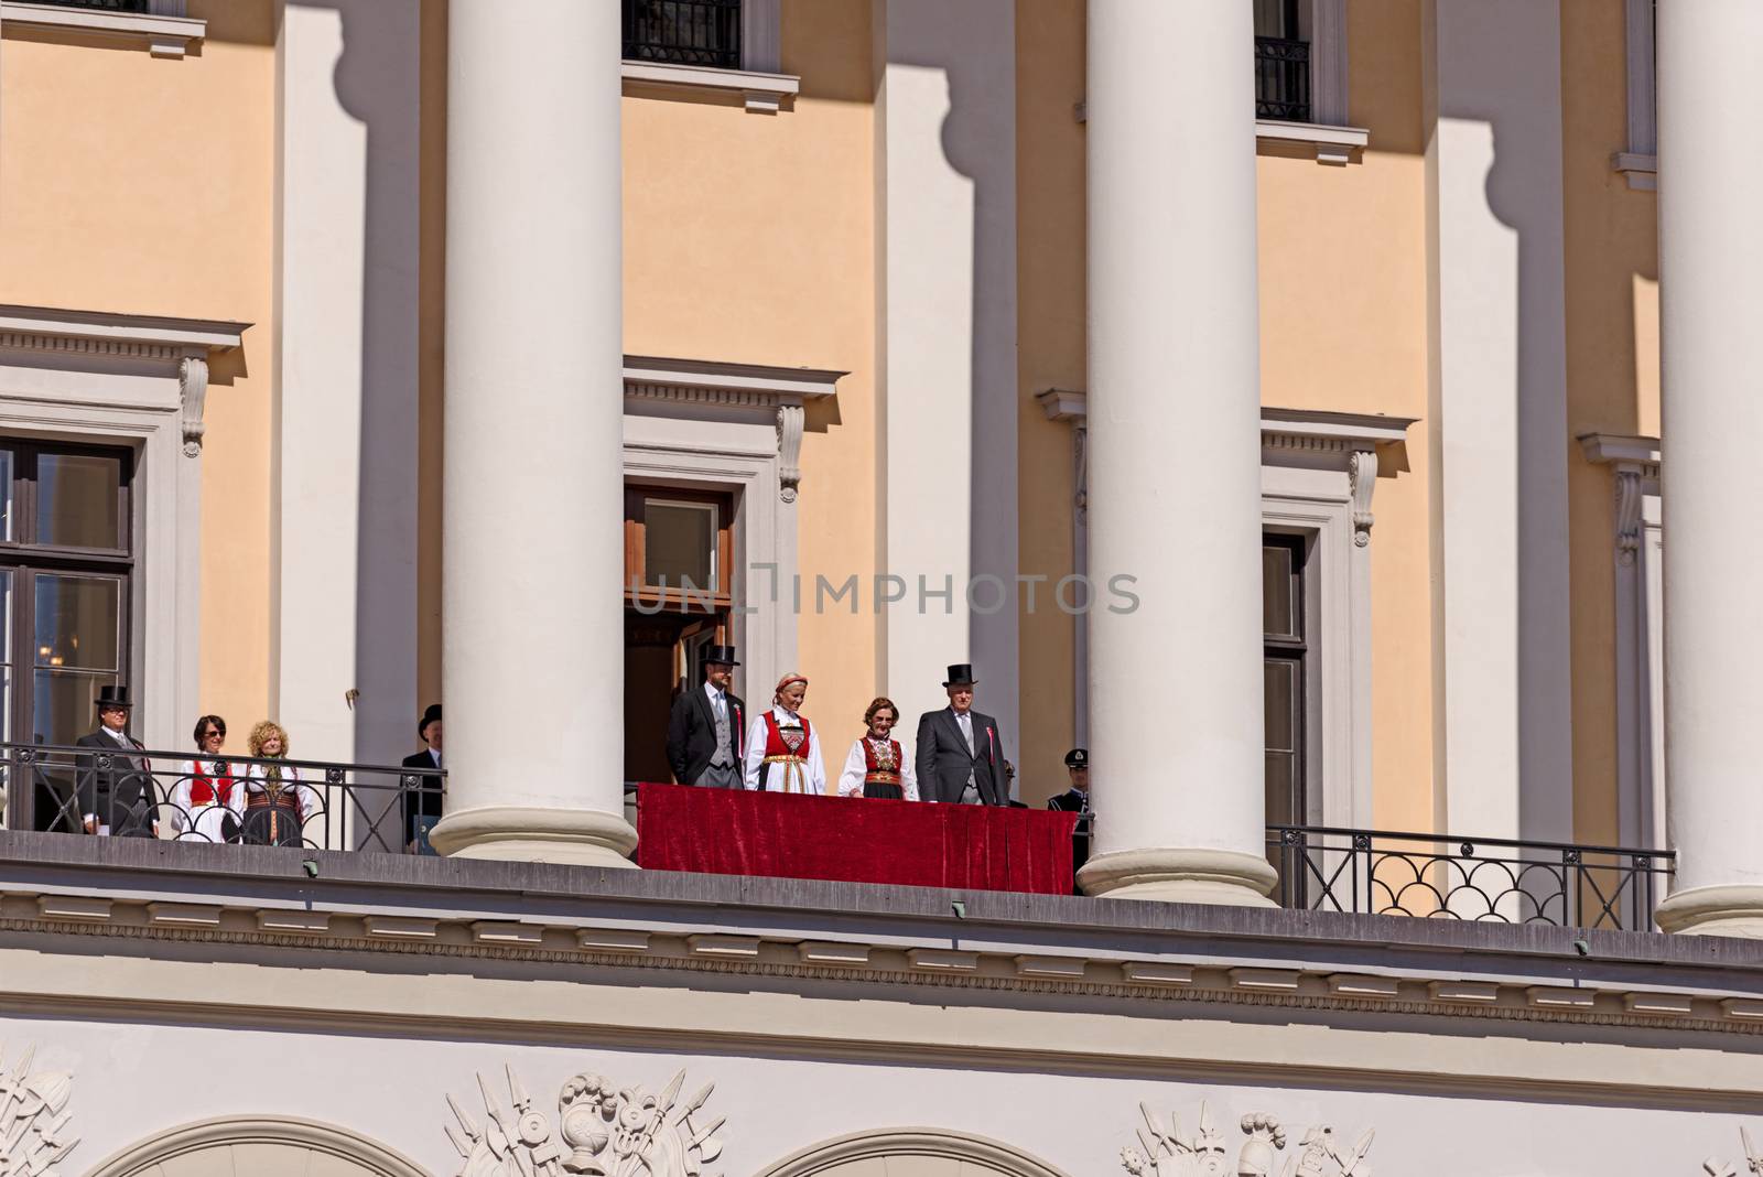
<path id="1" fill-rule="evenodd" d="M 1268 826 L 1282 907 L 1654 930 L 1677 855 L 1659 849 Z"/>

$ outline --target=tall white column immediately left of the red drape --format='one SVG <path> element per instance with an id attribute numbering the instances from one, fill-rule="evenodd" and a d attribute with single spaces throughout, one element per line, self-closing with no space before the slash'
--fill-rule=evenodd
<path id="1" fill-rule="evenodd" d="M 450 855 L 629 865 L 619 5 L 448 16 Z"/>

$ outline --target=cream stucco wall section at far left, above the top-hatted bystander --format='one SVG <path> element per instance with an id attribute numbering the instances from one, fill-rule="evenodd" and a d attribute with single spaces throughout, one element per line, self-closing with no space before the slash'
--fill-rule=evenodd
<path id="1" fill-rule="evenodd" d="M 275 25 L 270 0 L 189 14 L 183 60 L 7 26 L 0 301 L 254 324 L 213 365 L 203 451 L 201 700 L 245 728 L 270 700 Z"/>

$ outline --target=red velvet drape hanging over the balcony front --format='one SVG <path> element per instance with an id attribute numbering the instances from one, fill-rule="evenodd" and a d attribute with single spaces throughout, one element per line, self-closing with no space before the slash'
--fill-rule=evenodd
<path id="1" fill-rule="evenodd" d="M 1072 893 L 1077 814 L 640 784 L 645 870 Z"/>

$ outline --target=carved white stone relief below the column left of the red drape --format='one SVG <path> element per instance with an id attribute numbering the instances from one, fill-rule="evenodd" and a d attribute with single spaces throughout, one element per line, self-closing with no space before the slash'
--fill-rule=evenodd
<path id="1" fill-rule="evenodd" d="M 619 1087 L 603 1075 L 575 1075 L 557 1092 L 552 1117 L 534 1107 L 515 1070 L 506 1068 L 508 1105 L 483 1075 L 483 1121 L 448 1096 L 458 1128 L 446 1135 L 460 1154 L 458 1177 L 702 1177 L 723 1152 L 716 1131 L 726 1117 L 693 1122 L 716 1084 L 681 1101 L 686 1071 L 661 1094 Z M 5 1177 L 0 1172 L 0 1177 Z"/>

